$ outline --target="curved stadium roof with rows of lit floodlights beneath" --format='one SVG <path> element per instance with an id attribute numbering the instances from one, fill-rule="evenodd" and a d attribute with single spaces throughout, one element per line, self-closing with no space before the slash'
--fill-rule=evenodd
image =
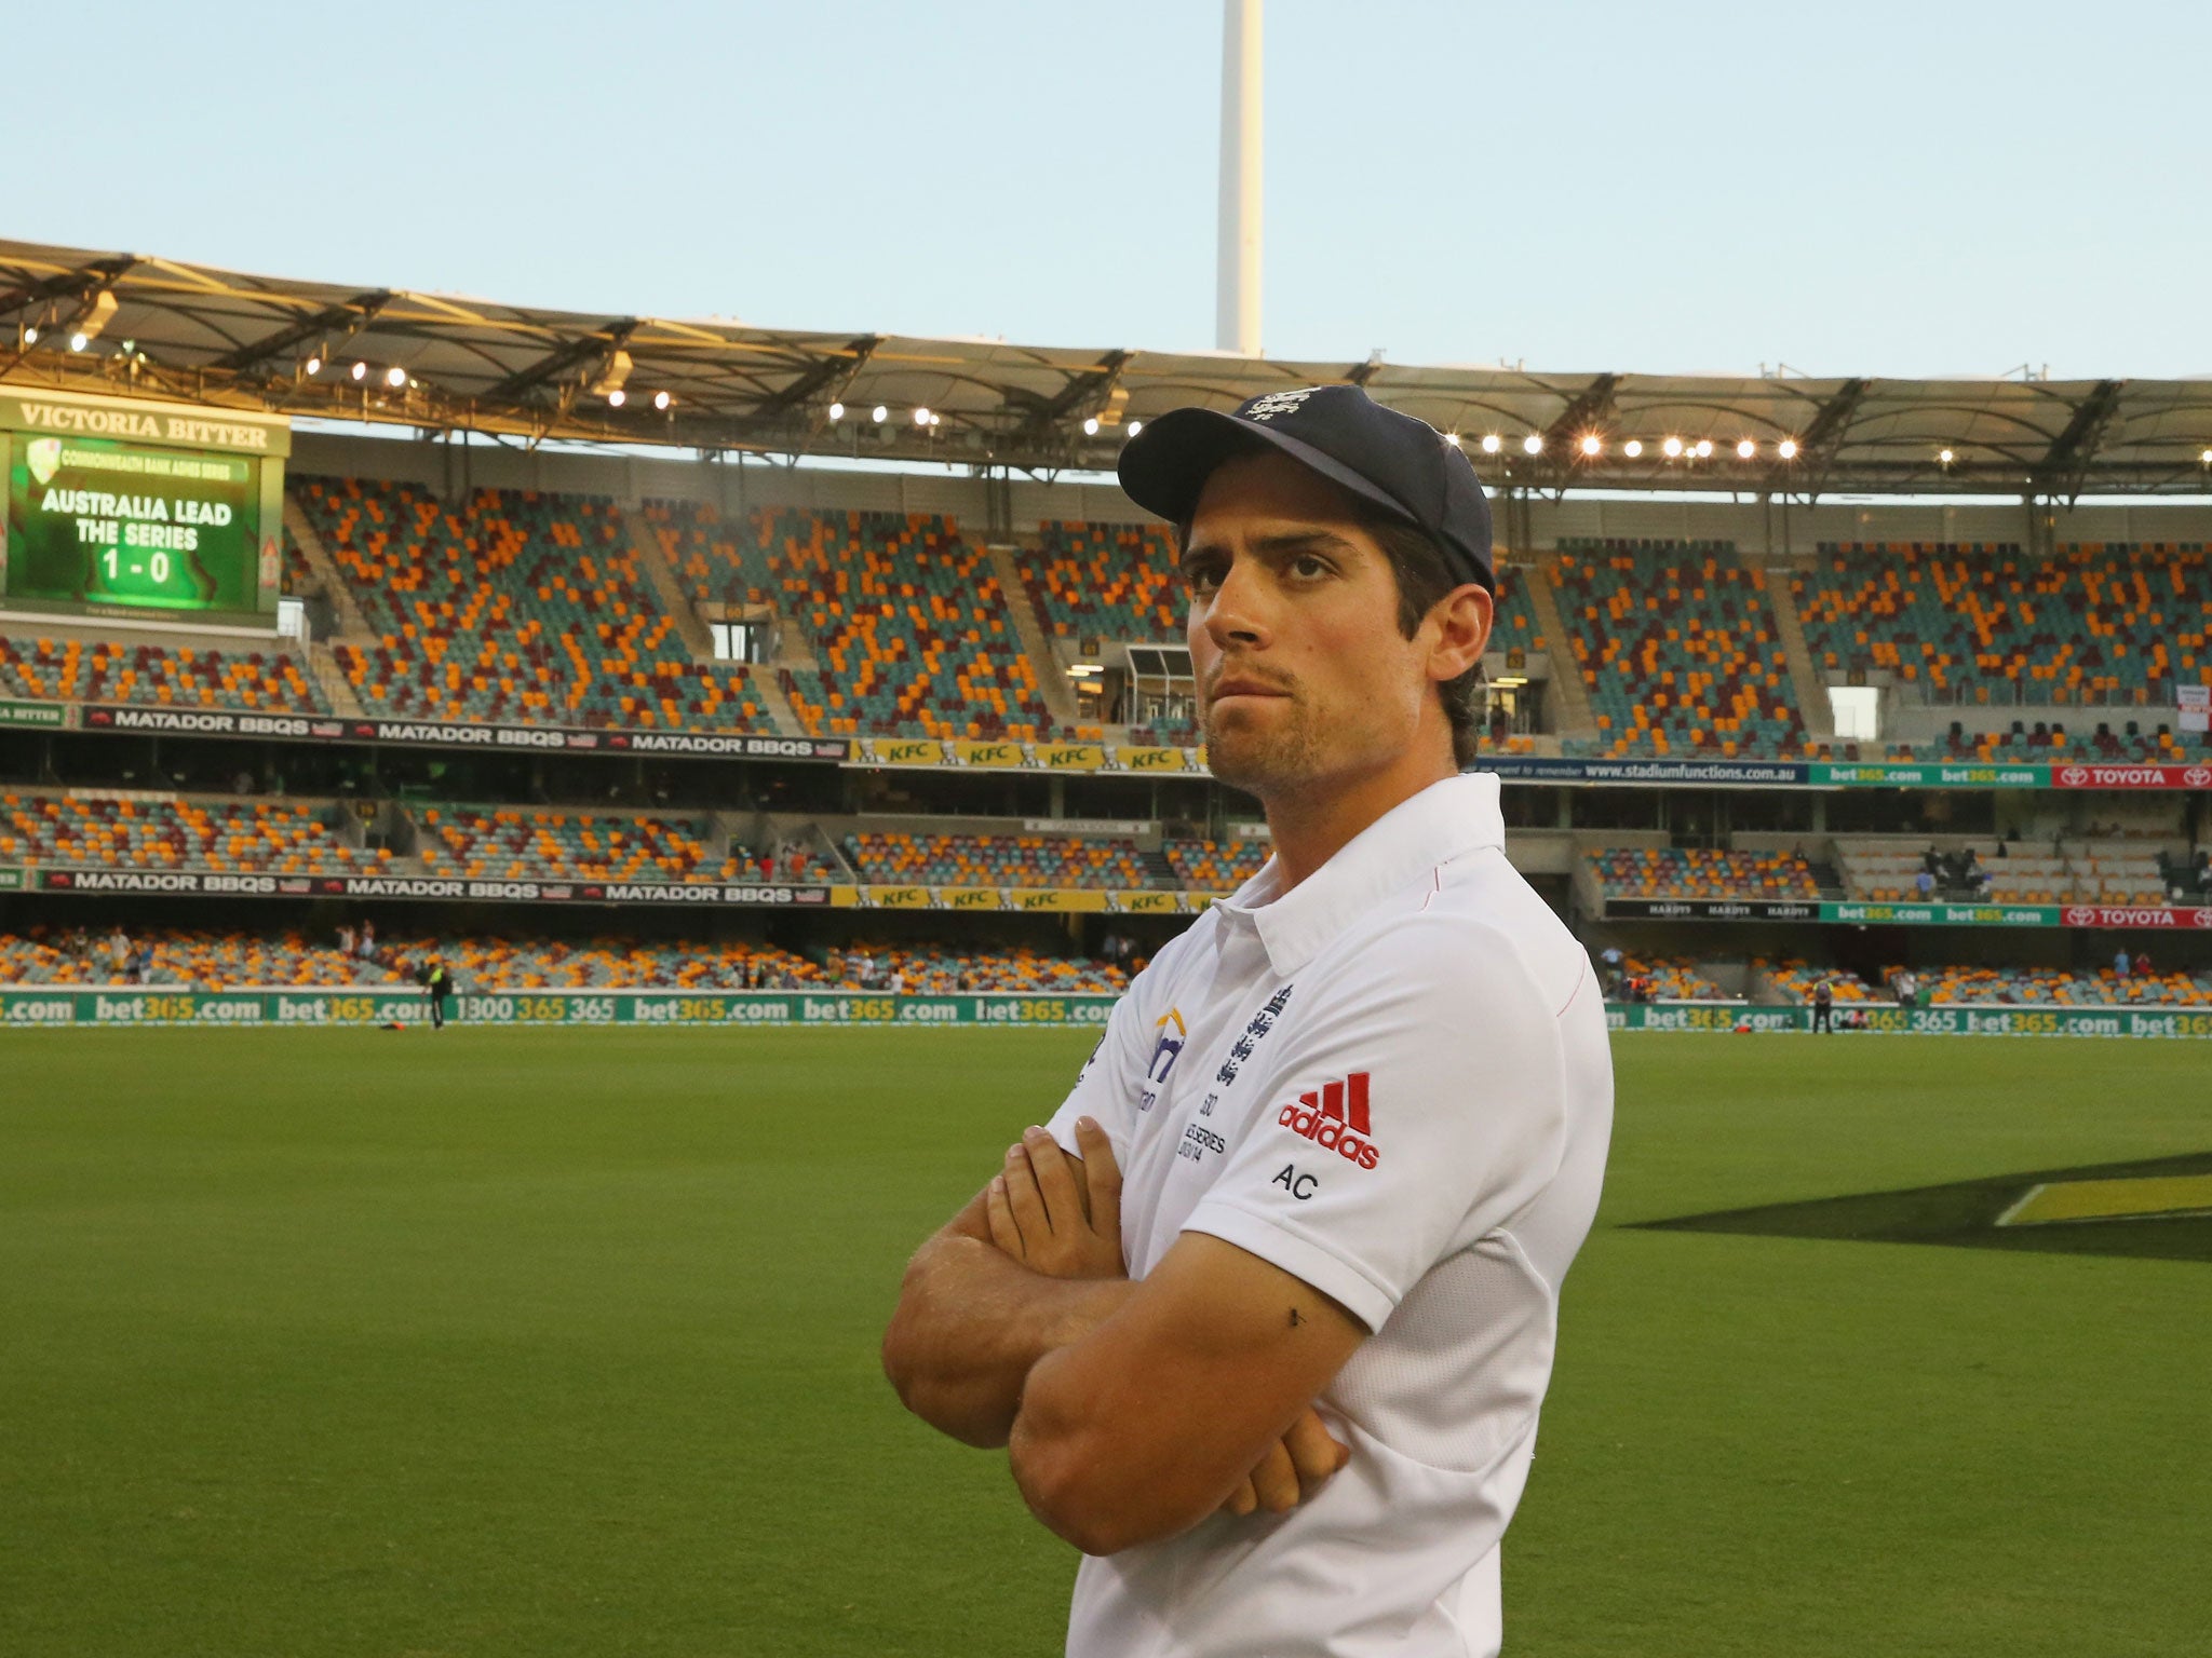
<path id="1" fill-rule="evenodd" d="M 27 329 L 38 329 L 35 343 Z M 84 349 L 71 349 L 77 332 L 93 336 Z M 310 360 L 321 360 L 319 371 L 310 374 Z M 365 365 L 361 378 L 354 365 Z M 405 371 L 403 385 L 394 369 Z M 13 241 L 0 241 L 0 380 L 425 433 L 1020 471 L 1110 471 L 1130 420 L 1349 380 L 1458 433 L 1491 486 L 2212 493 L 2212 380 L 1531 374 L 796 334 L 241 276 Z M 617 382 L 619 407 L 606 396 Z M 843 418 L 832 420 L 838 402 Z M 887 416 L 880 424 L 876 407 Z M 1686 451 L 1668 455 L 1668 438 Z M 1542 449 L 1531 451 L 1531 440 Z M 1635 458 L 1630 440 L 1641 444 Z M 1739 458 L 1743 442 L 1752 449 Z"/>

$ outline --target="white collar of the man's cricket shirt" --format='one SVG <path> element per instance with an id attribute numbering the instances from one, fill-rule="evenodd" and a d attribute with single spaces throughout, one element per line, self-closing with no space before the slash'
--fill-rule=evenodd
<path id="1" fill-rule="evenodd" d="M 1422 871 L 1504 842 L 1498 774 L 1462 772 L 1400 800 L 1281 898 L 1281 869 L 1270 858 L 1214 909 L 1225 926 L 1256 933 L 1267 964 L 1290 975 Z"/>

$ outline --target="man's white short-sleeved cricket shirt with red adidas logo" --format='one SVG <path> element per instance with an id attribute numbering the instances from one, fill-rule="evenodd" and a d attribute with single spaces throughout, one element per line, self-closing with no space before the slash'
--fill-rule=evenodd
<path id="1" fill-rule="evenodd" d="M 1279 882 L 1137 975 L 1051 1130 L 1113 1138 L 1133 1278 L 1203 1231 L 1367 1324 L 1316 1406 L 1352 1461 L 1290 1514 L 1084 1559 L 1068 1654 L 1489 1658 L 1613 1130 L 1597 975 L 1506 862 L 1489 774 Z"/>

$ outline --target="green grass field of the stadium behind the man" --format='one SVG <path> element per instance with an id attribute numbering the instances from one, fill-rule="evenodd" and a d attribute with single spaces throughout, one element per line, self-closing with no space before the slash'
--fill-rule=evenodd
<path id="1" fill-rule="evenodd" d="M 0 1035 L 0 1654 L 1051 1654 L 907 1419 L 1060 1032 Z M 1511 1654 L 2212 1643 L 2212 1265 L 1632 1222 L 2212 1150 L 2185 1041 L 1619 1037 Z"/>

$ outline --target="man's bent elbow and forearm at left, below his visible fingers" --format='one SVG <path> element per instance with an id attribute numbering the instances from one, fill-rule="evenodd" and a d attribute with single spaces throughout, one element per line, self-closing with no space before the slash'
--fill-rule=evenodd
<path id="1" fill-rule="evenodd" d="M 945 1231 L 907 1265 L 883 1371 L 931 1428 L 1004 1446 L 1031 1366 L 1082 1340 L 1128 1293 L 1124 1278 L 1046 1278 L 989 1242 Z"/>

